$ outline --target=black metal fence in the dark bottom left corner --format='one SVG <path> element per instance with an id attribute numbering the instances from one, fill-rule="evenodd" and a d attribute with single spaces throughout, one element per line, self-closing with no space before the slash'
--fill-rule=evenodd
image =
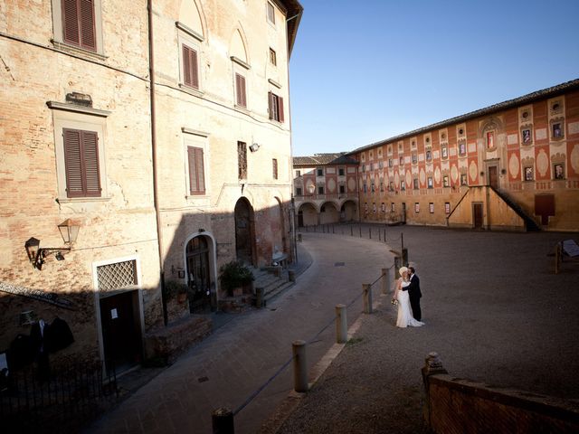
<path id="1" fill-rule="evenodd" d="M 0 378 L 0 432 L 76 432 L 117 401 L 117 375 L 103 362 L 39 375 L 33 366 Z"/>

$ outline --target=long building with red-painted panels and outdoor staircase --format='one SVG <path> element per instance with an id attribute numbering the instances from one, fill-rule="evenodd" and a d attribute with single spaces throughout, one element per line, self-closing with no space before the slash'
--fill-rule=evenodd
<path id="1" fill-rule="evenodd" d="M 361 221 L 579 231 L 579 80 L 347 156 Z"/>

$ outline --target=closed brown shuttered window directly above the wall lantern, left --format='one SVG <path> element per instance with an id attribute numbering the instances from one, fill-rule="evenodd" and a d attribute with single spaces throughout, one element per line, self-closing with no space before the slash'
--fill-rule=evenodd
<path id="1" fill-rule="evenodd" d="M 94 131 L 62 129 L 68 197 L 100 197 L 99 137 Z"/>

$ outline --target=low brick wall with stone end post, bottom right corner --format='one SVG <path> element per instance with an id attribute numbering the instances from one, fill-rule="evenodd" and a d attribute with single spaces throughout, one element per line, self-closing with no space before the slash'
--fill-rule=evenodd
<path id="1" fill-rule="evenodd" d="M 453 378 L 432 354 L 422 375 L 433 433 L 579 432 L 578 403 Z"/>

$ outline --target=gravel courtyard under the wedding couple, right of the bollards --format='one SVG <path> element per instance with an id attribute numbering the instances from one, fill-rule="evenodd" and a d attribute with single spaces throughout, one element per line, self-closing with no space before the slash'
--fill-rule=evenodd
<path id="1" fill-rule="evenodd" d="M 576 233 L 387 231 L 388 242 L 403 233 L 416 264 L 426 326 L 394 327 L 382 297 L 278 432 L 427 432 L 420 369 L 431 351 L 456 377 L 579 404 L 579 263 L 555 275 L 547 256 Z"/>

